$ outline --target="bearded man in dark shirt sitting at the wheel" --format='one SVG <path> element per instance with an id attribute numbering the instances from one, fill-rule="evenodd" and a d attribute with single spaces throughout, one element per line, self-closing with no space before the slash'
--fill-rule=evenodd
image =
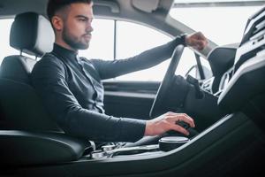
<path id="1" fill-rule="evenodd" d="M 206 38 L 201 33 L 177 37 L 123 60 L 79 58 L 78 50 L 88 48 L 93 31 L 92 6 L 90 0 L 49 0 L 47 12 L 56 41 L 54 50 L 34 66 L 32 82 L 50 115 L 66 134 L 96 142 L 135 142 L 144 135 L 162 135 L 169 130 L 188 135 L 176 125 L 182 120 L 195 126 L 184 113 L 168 112 L 151 120 L 105 115 L 101 80 L 157 65 L 170 58 L 180 43 L 202 50 Z"/>

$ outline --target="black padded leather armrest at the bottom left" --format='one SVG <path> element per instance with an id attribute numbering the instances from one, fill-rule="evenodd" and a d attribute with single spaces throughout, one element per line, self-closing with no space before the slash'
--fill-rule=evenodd
<path id="1" fill-rule="evenodd" d="M 0 164 L 40 165 L 79 159 L 90 142 L 62 133 L 0 130 Z"/>

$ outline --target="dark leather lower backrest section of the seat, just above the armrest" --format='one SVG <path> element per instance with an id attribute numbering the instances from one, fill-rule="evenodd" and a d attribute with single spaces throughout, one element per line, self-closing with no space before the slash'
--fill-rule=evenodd
<path id="1" fill-rule="evenodd" d="M 49 118 L 35 90 L 28 84 L 0 79 L 0 105 L 4 114 L 1 129 L 62 132 Z"/>

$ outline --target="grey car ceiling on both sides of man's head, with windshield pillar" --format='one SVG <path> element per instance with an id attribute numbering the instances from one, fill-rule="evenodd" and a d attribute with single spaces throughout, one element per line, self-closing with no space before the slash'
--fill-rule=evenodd
<path id="1" fill-rule="evenodd" d="M 173 2 L 174 0 L 94 0 L 94 13 L 98 18 L 124 19 L 143 23 L 171 36 L 192 33 L 193 30 L 184 24 L 172 23 L 168 12 Z M 0 19 L 14 18 L 21 12 L 38 12 L 46 16 L 47 3 L 48 0 L 1 0 Z M 216 44 L 210 42 L 209 46 L 208 50 L 202 51 L 202 56 L 207 56 Z"/>

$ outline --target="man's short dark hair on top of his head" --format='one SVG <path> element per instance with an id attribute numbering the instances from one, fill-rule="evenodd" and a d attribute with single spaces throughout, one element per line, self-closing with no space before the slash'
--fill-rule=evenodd
<path id="1" fill-rule="evenodd" d="M 49 0 L 47 5 L 47 15 L 49 20 L 55 15 L 55 13 L 65 6 L 74 4 L 74 3 L 86 3 L 91 4 L 92 0 Z"/>

